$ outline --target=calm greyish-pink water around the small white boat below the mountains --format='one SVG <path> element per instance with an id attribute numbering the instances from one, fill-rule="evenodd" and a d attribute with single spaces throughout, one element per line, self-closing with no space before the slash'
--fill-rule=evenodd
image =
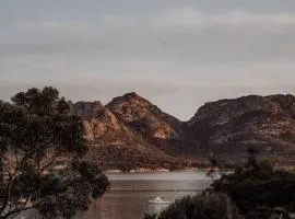
<path id="1" fill-rule="evenodd" d="M 205 172 L 111 173 L 111 189 L 93 203 L 76 219 L 141 219 L 144 212 L 157 214 L 167 205 L 149 204 L 162 196 L 174 201 L 206 188 L 212 178 Z"/>

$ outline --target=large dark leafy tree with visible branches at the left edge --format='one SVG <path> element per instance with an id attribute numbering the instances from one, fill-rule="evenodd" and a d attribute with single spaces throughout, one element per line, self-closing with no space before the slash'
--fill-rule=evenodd
<path id="1" fill-rule="evenodd" d="M 0 102 L 0 218 L 37 210 L 71 218 L 101 197 L 109 182 L 83 157 L 80 117 L 54 88 L 30 89 Z"/>

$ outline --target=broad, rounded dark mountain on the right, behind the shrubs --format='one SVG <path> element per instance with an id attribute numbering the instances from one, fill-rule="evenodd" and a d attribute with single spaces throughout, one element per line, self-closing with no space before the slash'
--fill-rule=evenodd
<path id="1" fill-rule="evenodd" d="M 204 153 L 226 162 L 247 158 L 256 148 L 276 165 L 295 164 L 295 96 L 249 95 L 206 103 L 186 123 Z"/>

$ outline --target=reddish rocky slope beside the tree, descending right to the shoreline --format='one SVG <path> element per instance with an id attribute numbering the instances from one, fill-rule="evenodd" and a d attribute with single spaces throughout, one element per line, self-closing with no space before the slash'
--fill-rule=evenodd
<path id="1" fill-rule="evenodd" d="M 102 162 L 105 169 L 177 169 L 186 165 L 187 161 L 165 153 L 101 102 L 76 102 L 70 106 L 72 113 L 83 119 L 90 147 L 87 157 Z"/>

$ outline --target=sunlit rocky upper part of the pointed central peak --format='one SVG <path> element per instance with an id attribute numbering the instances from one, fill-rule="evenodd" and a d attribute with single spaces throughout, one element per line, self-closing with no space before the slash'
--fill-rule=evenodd
<path id="1" fill-rule="evenodd" d="M 145 137 L 168 139 L 182 132 L 181 122 L 134 92 L 114 99 L 106 107 Z"/>

